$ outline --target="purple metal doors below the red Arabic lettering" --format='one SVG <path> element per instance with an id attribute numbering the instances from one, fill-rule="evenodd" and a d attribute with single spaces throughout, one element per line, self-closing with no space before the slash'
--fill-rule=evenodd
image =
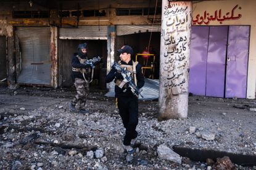
<path id="1" fill-rule="evenodd" d="M 246 98 L 250 26 L 192 26 L 189 92 Z"/>

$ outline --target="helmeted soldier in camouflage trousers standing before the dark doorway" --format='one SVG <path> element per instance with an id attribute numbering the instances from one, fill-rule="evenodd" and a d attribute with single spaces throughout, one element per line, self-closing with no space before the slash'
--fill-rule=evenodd
<path id="1" fill-rule="evenodd" d="M 89 76 L 91 75 L 91 66 L 85 63 L 87 58 L 86 43 L 78 45 L 78 53 L 75 53 L 72 58 L 72 72 L 75 79 L 76 95 L 69 103 L 69 108 L 72 112 L 78 111 L 81 113 L 88 113 L 85 103 L 89 95 Z"/>

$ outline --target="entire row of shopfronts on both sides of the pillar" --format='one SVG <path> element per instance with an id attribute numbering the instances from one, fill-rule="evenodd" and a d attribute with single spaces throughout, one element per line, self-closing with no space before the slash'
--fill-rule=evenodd
<path id="1" fill-rule="evenodd" d="M 92 85 L 104 77 L 129 44 L 150 48 L 159 78 L 162 1 L 0 2 L 0 80 L 9 85 L 72 86 L 71 58 L 88 42 L 89 57 L 101 56 Z M 253 0 L 192 1 L 189 92 L 220 98 L 255 98 L 256 28 Z M 250 48 L 251 47 L 251 48 Z M 146 70 L 145 70 L 146 72 Z"/>

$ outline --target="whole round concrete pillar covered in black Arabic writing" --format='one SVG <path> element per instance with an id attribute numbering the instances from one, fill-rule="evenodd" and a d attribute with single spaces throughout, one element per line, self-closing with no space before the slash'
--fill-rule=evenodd
<path id="1" fill-rule="evenodd" d="M 162 1 L 158 120 L 188 117 L 190 1 Z"/>

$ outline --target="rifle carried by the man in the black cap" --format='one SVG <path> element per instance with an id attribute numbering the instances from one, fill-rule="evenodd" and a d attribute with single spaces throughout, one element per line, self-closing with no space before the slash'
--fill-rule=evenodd
<path id="1" fill-rule="evenodd" d="M 131 88 L 131 92 L 133 92 L 133 95 L 139 98 L 139 95 L 141 95 L 141 90 L 135 85 L 133 77 L 131 77 L 131 72 L 126 70 L 126 68 L 121 68 L 120 65 L 115 62 L 112 66 L 112 68 L 115 68 L 117 71 L 120 71 L 123 76 L 123 81 L 118 85 L 118 87 L 123 88 L 123 86 L 126 83 L 129 83 L 129 87 Z M 141 98 L 143 96 L 141 95 Z"/>

